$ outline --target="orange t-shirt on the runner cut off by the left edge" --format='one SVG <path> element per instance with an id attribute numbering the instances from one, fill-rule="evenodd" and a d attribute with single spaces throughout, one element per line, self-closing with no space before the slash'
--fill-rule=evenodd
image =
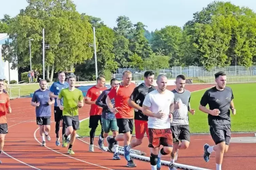
<path id="1" fill-rule="evenodd" d="M 3 92 L 0 94 L 0 124 L 7 123 L 6 113 L 7 108 L 10 106 L 10 97 Z"/>

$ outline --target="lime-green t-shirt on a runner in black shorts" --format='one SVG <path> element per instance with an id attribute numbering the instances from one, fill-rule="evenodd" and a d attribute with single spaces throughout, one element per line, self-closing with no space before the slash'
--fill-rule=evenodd
<path id="1" fill-rule="evenodd" d="M 84 96 L 81 90 L 75 88 L 74 91 L 69 91 L 68 88 L 62 89 L 58 95 L 58 98 L 63 98 L 63 112 L 64 116 L 77 116 L 78 115 L 78 103 L 84 100 Z"/>

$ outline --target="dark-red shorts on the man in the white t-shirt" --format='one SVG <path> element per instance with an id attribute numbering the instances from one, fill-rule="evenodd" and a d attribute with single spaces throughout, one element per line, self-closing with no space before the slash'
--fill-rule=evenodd
<path id="1" fill-rule="evenodd" d="M 152 129 L 149 128 L 149 147 L 158 148 L 160 145 L 173 147 L 173 138 L 171 128 Z"/>

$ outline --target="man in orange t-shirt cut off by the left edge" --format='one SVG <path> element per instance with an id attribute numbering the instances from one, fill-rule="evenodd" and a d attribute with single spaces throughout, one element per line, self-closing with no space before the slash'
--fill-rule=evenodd
<path id="1" fill-rule="evenodd" d="M 8 133 L 6 113 L 11 113 L 10 97 L 3 92 L 4 81 L 0 79 L 0 153 L 4 146 L 4 137 Z M 2 162 L 0 161 L 0 164 Z"/>

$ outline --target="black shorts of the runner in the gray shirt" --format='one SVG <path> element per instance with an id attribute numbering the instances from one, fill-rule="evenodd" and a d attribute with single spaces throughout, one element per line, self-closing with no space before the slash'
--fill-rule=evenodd
<path id="1" fill-rule="evenodd" d="M 171 130 L 172 130 L 173 143 L 177 143 L 182 140 L 186 140 L 190 142 L 189 125 L 171 126 Z"/>

